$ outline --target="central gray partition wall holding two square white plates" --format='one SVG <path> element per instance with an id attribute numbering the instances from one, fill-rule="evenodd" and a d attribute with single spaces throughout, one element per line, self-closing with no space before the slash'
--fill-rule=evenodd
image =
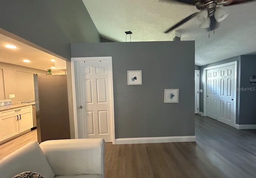
<path id="1" fill-rule="evenodd" d="M 71 56 L 112 56 L 116 138 L 195 135 L 194 41 L 76 43 Z M 142 70 L 142 85 L 128 86 L 127 70 Z M 179 103 L 165 104 L 164 88 L 179 88 Z"/>

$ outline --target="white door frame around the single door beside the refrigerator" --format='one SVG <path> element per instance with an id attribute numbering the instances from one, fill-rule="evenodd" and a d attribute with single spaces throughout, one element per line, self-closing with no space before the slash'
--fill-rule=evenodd
<path id="1" fill-rule="evenodd" d="M 76 76 L 76 63 L 80 61 L 93 61 L 93 60 L 104 60 L 108 59 L 110 65 L 110 89 L 111 89 L 111 100 L 112 100 L 112 143 L 115 144 L 115 119 L 114 119 L 114 87 L 113 87 L 113 69 L 112 69 L 112 57 L 72 57 L 71 58 L 71 69 L 72 69 L 72 88 L 73 88 L 73 106 L 74 106 L 74 122 L 75 122 L 75 138 L 80 139 L 79 129 L 79 114 L 78 114 L 78 87 L 77 87 L 77 76 Z"/>

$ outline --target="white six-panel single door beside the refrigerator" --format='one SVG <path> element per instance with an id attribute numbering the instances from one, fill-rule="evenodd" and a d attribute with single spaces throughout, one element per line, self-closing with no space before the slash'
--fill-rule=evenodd
<path id="1" fill-rule="evenodd" d="M 80 137 L 104 138 L 112 142 L 111 57 L 84 59 L 76 61 Z"/>

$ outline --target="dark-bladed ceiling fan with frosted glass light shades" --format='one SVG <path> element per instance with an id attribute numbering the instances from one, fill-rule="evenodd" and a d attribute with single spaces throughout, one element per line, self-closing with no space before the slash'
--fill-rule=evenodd
<path id="1" fill-rule="evenodd" d="M 195 23 L 199 25 L 199 28 L 207 28 L 208 31 L 218 28 L 219 23 L 224 20 L 229 12 L 222 7 L 231 6 L 235 4 L 246 3 L 254 0 L 164 0 L 168 2 L 180 2 L 184 4 L 190 4 L 196 6 L 199 12 L 195 12 L 190 16 L 184 18 L 180 22 L 176 23 L 164 33 L 168 33 L 179 27 L 180 25 L 188 22 L 192 18 L 195 18 Z"/>

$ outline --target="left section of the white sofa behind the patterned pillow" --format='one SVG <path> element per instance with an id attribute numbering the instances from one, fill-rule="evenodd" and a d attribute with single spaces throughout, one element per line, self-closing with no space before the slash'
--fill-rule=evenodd
<path id="1" fill-rule="evenodd" d="M 54 172 L 36 141 L 32 141 L 0 160 L 0 177 L 12 178 L 24 171 L 38 172 L 54 178 Z"/>

